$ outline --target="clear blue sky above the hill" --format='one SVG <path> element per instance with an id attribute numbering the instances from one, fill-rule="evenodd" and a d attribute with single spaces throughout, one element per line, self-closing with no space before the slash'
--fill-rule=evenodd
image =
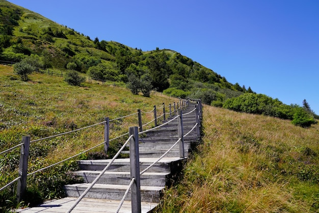
<path id="1" fill-rule="evenodd" d="M 9 0 L 79 33 L 172 49 L 256 93 L 319 114 L 318 0 Z"/>

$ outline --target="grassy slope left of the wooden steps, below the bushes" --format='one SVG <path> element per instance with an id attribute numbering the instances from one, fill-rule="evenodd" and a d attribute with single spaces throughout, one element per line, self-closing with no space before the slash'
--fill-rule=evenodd
<path id="1" fill-rule="evenodd" d="M 0 152 L 21 142 L 22 136 L 31 140 L 57 135 L 111 119 L 137 113 L 138 109 L 150 112 L 154 105 L 178 102 L 178 99 L 152 93 L 146 98 L 114 84 L 86 82 L 81 87 L 69 86 L 63 77 L 41 73 L 30 75 L 31 81 L 20 81 L 11 66 L 0 65 Z M 160 113 L 160 110 L 158 110 Z M 162 111 L 163 112 L 163 111 Z M 158 114 L 159 115 L 159 114 Z M 142 113 L 143 123 L 153 119 L 153 114 Z M 152 124 L 144 128 L 150 128 Z M 110 139 L 128 132 L 129 126 L 138 126 L 137 115 L 110 122 Z M 110 143 L 108 155 L 103 146 L 82 154 L 28 178 L 28 202 L 63 197 L 63 185 L 77 181 L 67 174 L 77 169 L 79 158 L 111 157 L 125 142 L 121 138 Z M 103 140 L 103 125 L 73 132 L 49 140 L 34 142 L 30 146 L 29 172 L 66 159 L 87 150 Z M 18 176 L 20 150 L 14 149 L 0 156 L 0 187 Z M 0 212 L 15 202 L 16 184 L 0 192 Z"/>

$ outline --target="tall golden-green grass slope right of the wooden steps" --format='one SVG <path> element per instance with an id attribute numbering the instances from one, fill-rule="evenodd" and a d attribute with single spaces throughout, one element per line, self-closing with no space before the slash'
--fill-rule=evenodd
<path id="1" fill-rule="evenodd" d="M 158 212 L 318 212 L 318 124 L 205 105 L 203 134 Z"/>

